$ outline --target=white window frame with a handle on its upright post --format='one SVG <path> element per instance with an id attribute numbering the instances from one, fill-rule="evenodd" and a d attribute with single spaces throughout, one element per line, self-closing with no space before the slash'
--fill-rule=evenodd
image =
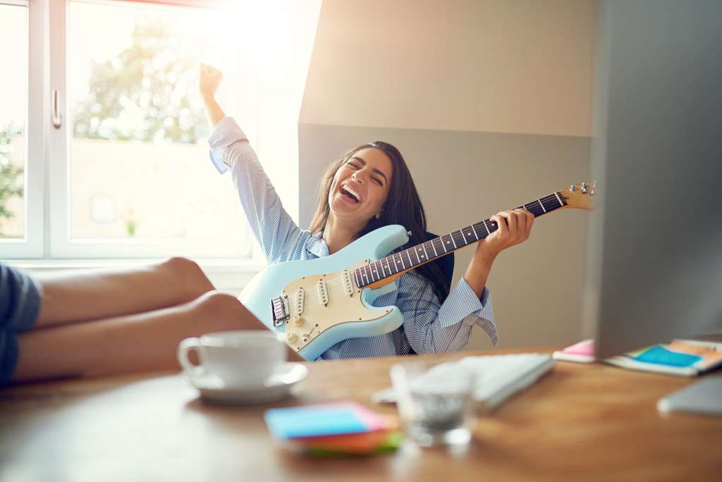
<path id="1" fill-rule="evenodd" d="M 71 106 L 69 105 L 69 11 L 77 0 L 3 0 L 26 8 L 28 55 L 28 108 L 25 124 L 25 229 L 24 237 L 0 240 L 5 259 L 102 259 L 188 258 L 253 259 L 257 250 L 247 228 L 231 226 L 223 240 L 71 240 Z M 82 0 L 80 0 L 82 2 Z M 153 9 L 194 7 L 188 1 L 90 1 L 94 4 L 129 4 Z M 144 5 L 147 4 L 147 5 Z M 257 82 L 251 76 L 250 82 Z M 250 88 L 248 88 L 250 87 Z M 247 90 L 253 91 L 254 86 Z M 55 97 L 55 95 L 57 97 Z M 231 94 L 227 97 L 235 97 Z M 231 100 L 235 100 L 231 98 Z M 60 126 L 53 125 L 53 102 L 57 102 Z M 235 102 L 233 102 L 235 104 Z M 199 159 L 199 169 L 210 169 Z M 240 223 L 243 214 L 229 184 L 229 223 Z M 239 232 L 240 231 L 240 232 Z"/>

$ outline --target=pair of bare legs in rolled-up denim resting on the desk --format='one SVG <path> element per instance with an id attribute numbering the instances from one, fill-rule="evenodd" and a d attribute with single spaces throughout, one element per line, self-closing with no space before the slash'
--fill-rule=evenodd
<path id="1" fill-rule="evenodd" d="M 265 328 L 185 258 L 32 277 L 0 264 L 0 387 L 178 369 L 183 338 L 239 329 Z"/>

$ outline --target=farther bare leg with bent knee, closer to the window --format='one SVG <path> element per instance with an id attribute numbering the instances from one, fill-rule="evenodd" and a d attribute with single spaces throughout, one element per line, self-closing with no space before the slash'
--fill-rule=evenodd
<path id="1" fill-rule="evenodd" d="M 185 258 L 129 269 L 41 275 L 37 279 L 43 300 L 36 328 L 173 307 L 213 289 L 201 268 Z"/>

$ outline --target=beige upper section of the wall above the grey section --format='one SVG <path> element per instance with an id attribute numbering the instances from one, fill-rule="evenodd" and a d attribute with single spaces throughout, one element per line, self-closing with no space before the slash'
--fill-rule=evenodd
<path id="1" fill-rule="evenodd" d="M 324 0 L 300 123 L 590 136 L 592 65 L 592 0 Z"/>

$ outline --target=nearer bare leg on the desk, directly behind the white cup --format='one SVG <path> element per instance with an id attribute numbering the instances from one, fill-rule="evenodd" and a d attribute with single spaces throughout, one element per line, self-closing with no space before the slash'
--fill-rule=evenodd
<path id="1" fill-rule="evenodd" d="M 183 338 L 266 329 L 235 297 L 209 292 L 178 307 L 20 333 L 12 382 L 178 369 Z M 291 351 L 289 359 L 302 360 Z"/>

